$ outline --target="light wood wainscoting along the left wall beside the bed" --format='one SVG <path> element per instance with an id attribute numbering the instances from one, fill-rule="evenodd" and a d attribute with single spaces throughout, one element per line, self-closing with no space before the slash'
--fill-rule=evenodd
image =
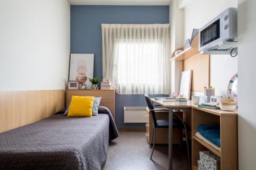
<path id="1" fill-rule="evenodd" d="M 0 91 L 0 132 L 47 118 L 65 107 L 65 90 Z"/>

